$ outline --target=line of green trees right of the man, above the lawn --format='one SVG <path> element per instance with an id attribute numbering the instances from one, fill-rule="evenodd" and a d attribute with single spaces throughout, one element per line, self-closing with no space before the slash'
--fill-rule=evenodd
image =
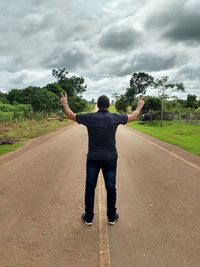
<path id="1" fill-rule="evenodd" d="M 134 73 L 130 79 L 130 86 L 124 94 L 113 94 L 115 106 L 118 112 L 126 113 L 128 107 L 134 110 L 137 107 L 137 96 L 143 95 L 145 105 L 143 113 L 149 113 L 151 121 L 153 114 L 159 111 L 161 126 L 164 118 L 164 111 L 173 112 L 199 112 L 200 100 L 196 95 L 188 94 L 187 99 L 178 99 L 173 96 L 174 92 L 184 92 L 183 83 L 169 83 L 169 77 L 163 76 L 160 79 L 154 79 L 151 75 L 139 72 Z M 147 89 L 150 88 L 156 93 L 155 96 L 145 96 Z"/>

